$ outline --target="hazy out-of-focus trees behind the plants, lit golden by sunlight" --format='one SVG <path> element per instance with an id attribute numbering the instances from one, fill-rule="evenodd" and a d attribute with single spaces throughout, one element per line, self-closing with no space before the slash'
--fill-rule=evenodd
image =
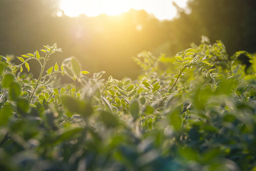
<path id="1" fill-rule="evenodd" d="M 0 54 L 21 56 L 57 43 L 63 53 L 53 55 L 50 65 L 73 55 L 83 70 L 104 70 L 106 76 L 122 79 L 137 78 L 140 69 L 131 57 L 139 52 L 172 56 L 192 42 L 199 44 L 202 35 L 211 42 L 221 39 L 230 55 L 256 52 L 255 0 L 194 0 L 188 7 L 189 14 L 177 6 L 179 17 L 173 21 L 158 21 L 143 10 L 69 18 L 57 17 L 58 1 L 1 0 Z M 37 64 L 33 66 L 37 75 Z"/>

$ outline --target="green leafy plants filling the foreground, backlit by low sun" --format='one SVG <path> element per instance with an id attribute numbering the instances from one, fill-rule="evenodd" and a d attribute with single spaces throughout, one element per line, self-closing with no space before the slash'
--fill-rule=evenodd
<path id="1" fill-rule="evenodd" d="M 175 58 L 142 52 L 137 80 L 104 80 L 74 57 L 46 70 L 61 49 L 41 51 L 0 57 L 1 170 L 256 169 L 255 55 L 203 36 Z M 38 79 L 23 73 L 32 59 Z"/>

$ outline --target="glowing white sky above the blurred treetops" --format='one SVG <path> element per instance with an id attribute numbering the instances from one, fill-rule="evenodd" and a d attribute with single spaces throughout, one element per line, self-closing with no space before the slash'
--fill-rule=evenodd
<path id="1" fill-rule="evenodd" d="M 130 9 L 144 9 L 153 13 L 158 19 L 172 19 L 177 10 L 173 1 L 180 7 L 185 7 L 187 0 L 61 0 L 60 7 L 70 17 L 85 14 L 95 17 L 99 14 L 118 15 Z"/>

